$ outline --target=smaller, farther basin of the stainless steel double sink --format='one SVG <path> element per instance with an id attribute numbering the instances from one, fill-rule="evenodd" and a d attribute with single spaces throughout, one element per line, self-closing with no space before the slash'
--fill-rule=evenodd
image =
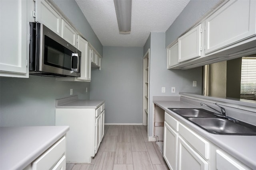
<path id="1" fill-rule="evenodd" d="M 168 108 L 185 117 L 216 117 L 213 112 L 205 109 Z"/>

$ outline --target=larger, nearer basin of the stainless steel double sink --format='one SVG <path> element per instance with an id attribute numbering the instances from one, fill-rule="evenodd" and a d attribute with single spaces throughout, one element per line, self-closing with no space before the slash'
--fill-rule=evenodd
<path id="1" fill-rule="evenodd" d="M 190 117 L 192 121 L 202 129 L 215 134 L 225 135 L 256 135 L 256 127 L 244 122 L 235 123 L 223 118 Z"/>

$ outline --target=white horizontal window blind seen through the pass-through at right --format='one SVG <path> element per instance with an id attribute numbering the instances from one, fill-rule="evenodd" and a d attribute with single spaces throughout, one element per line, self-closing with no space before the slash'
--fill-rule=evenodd
<path id="1" fill-rule="evenodd" d="M 242 57 L 240 98 L 256 100 L 256 57 Z"/>

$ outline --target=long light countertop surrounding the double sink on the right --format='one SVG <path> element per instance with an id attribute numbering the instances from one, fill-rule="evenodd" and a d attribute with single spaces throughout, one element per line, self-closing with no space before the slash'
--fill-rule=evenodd
<path id="1" fill-rule="evenodd" d="M 200 108 L 181 101 L 153 101 L 178 121 L 184 123 L 198 134 L 202 135 L 230 155 L 234 156 L 246 166 L 256 170 L 256 136 L 238 136 L 238 135 L 216 135 L 208 133 L 180 115 L 170 111 L 169 108 Z"/>

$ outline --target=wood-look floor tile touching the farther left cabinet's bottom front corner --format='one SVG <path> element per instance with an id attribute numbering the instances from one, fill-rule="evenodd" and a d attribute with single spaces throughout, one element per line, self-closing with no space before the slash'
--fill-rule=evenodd
<path id="1" fill-rule="evenodd" d="M 93 170 L 113 170 L 115 152 L 98 152 Z"/>

